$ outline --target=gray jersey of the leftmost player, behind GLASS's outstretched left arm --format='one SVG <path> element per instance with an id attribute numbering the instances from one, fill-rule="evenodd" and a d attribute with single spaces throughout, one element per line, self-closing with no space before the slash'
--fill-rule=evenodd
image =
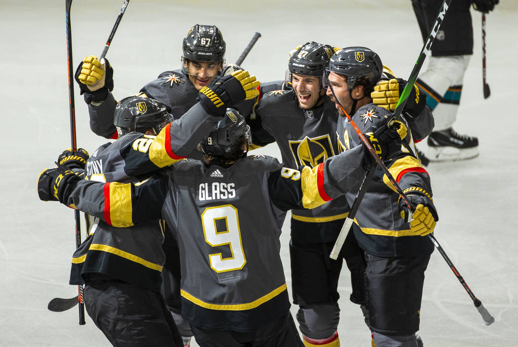
<path id="1" fill-rule="evenodd" d="M 121 149 L 141 138 L 130 133 L 113 144 L 100 146 L 89 158 L 85 179 L 98 182 L 134 182 L 127 176 Z M 74 252 L 70 284 L 83 284 L 91 274 L 102 273 L 113 279 L 160 292 L 160 273 L 165 262 L 162 250 L 163 225 L 159 220 L 126 228 L 116 228 L 94 218 L 88 237 Z"/>

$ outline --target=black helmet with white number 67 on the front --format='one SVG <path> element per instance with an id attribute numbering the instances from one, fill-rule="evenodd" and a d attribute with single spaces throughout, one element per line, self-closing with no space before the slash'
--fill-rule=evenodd
<path id="1" fill-rule="evenodd" d="M 185 60 L 224 63 L 226 44 L 215 25 L 194 25 L 183 39 L 182 65 Z"/>

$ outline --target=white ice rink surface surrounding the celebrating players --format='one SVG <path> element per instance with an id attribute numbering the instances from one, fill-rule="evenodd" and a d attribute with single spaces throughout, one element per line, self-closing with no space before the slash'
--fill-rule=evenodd
<path id="1" fill-rule="evenodd" d="M 73 4 L 74 69 L 85 55 L 102 52 L 122 3 Z M 307 40 L 370 47 L 404 78 L 422 47 L 408 0 L 221 2 L 225 8 L 216 4 L 132 1 L 108 52 L 115 71 L 114 95 L 120 99 L 135 94 L 162 71 L 178 68 L 181 40 L 195 23 L 218 25 L 227 42 L 227 62 L 237 59 L 254 32 L 260 32 L 262 38 L 243 66 L 262 81 L 283 78 L 287 52 Z M 482 96 L 480 13 L 472 15 L 474 55 L 455 128 L 479 136 L 480 156 L 427 169 L 440 215 L 436 237 L 496 322 L 483 325 L 462 285 L 434 252 L 421 310 L 420 334 L 427 347 L 518 346 L 518 2 L 501 1 L 487 16 L 487 79 L 492 91 L 487 100 Z M 64 2 L 0 0 L 0 18 L 0 346 L 108 346 L 89 317 L 85 326 L 78 325 L 77 308 L 47 310 L 50 299 L 76 295 L 76 287 L 68 285 L 74 213 L 57 203 L 43 203 L 36 194 L 38 173 L 70 146 Z M 77 142 L 93 150 L 106 140 L 90 131 L 87 107 L 74 87 Z M 278 155 L 275 145 L 261 151 Z M 290 286 L 289 227 L 283 231 Z M 369 346 L 361 313 L 348 300 L 346 267 L 339 287 L 342 345 Z"/>

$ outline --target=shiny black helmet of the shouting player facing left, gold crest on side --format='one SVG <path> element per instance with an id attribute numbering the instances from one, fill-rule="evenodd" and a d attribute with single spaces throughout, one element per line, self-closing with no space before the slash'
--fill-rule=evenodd
<path id="1" fill-rule="evenodd" d="M 383 73 L 383 64 L 379 55 L 367 47 L 347 47 L 333 54 L 327 70 L 347 76 L 347 88 L 353 89 L 358 77 L 375 85 Z"/>

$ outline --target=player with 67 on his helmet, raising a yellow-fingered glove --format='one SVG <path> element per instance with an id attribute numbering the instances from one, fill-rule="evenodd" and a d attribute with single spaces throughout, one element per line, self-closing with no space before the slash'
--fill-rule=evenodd
<path id="1" fill-rule="evenodd" d="M 215 25 L 194 25 L 182 44 L 182 68 L 165 71 L 140 90 L 140 96 L 159 100 L 166 105 L 175 118 L 180 118 L 196 104 L 198 91 L 218 74 L 229 74 L 236 66 L 224 67 L 226 44 Z M 223 69 L 223 70 L 222 70 Z M 92 131 L 106 138 L 116 139 L 118 134 L 112 124 L 113 111 L 117 105 L 113 90 L 113 69 L 105 60 L 103 64 L 95 56 L 87 56 L 76 70 L 76 81 L 88 104 Z M 244 101 L 234 107 L 244 114 L 250 113 L 255 100 Z M 191 157 L 200 158 L 197 151 Z M 163 291 L 168 307 L 175 317 L 180 332 L 188 345 L 192 336 L 190 327 L 180 316 L 179 269 L 176 268 L 178 247 L 174 238 L 165 235 L 164 250 L 167 254 L 162 272 Z M 171 259 L 171 261 L 169 261 Z M 171 266 L 169 266 L 171 265 Z"/>

